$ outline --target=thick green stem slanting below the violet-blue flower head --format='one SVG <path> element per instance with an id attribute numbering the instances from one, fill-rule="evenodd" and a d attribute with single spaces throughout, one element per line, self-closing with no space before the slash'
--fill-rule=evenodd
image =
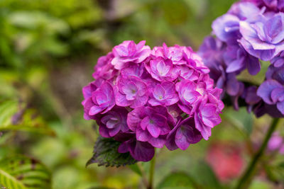
<path id="1" fill-rule="evenodd" d="M 241 179 L 239 180 L 239 183 L 236 186 L 236 189 L 249 188 L 249 185 L 253 178 L 253 173 L 255 173 L 256 164 L 261 159 L 263 152 L 266 150 L 268 141 L 271 138 L 274 130 L 276 129 L 278 122 L 279 122 L 279 118 L 275 118 L 273 120 L 271 127 L 269 127 L 266 133 L 266 137 L 264 138 L 263 143 L 261 144 L 261 147 L 258 149 L 256 154 L 253 156 L 253 159 L 251 160 L 251 163 L 249 164 L 249 166 L 246 168 L 246 171 L 244 172 L 243 176 L 241 176 Z"/>

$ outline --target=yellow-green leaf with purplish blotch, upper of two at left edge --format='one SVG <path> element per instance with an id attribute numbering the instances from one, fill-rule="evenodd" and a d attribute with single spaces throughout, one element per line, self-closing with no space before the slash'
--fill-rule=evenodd
<path id="1" fill-rule="evenodd" d="M 0 132 L 6 130 L 55 135 L 35 110 L 28 109 L 26 105 L 17 101 L 0 103 Z"/>

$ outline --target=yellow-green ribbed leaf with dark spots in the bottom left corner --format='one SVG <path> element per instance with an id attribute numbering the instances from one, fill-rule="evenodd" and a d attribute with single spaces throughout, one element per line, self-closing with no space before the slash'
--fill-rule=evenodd
<path id="1" fill-rule="evenodd" d="M 35 159 L 13 156 L 0 161 L 0 184 L 6 188 L 48 189 L 50 178 L 48 169 Z"/>

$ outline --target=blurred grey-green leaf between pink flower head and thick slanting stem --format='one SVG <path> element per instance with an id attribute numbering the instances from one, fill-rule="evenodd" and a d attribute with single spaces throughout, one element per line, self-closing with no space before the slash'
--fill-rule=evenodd
<path id="1" fill-rule="evenodd" d="M 224 117 L 246 135 L 249 136 L 251 134 L 253 130 L 253 117 L 245 107 L 239 108 L 238 111 L 233 108 L 227 108 L 224 111 Z"/>

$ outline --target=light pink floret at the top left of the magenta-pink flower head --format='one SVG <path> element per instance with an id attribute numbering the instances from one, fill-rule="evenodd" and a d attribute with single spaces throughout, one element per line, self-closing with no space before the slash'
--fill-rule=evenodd
<path id="1" fill-rule="evenodd" d="M 137 45 L 131 40 L 126 40 L 114 47 L 112 52 L 114 53 L 114 59 L 111 60 L 111 64 L 115 69 L 121 69 L 127 66 L 126 63 L 134 62 L 141 63 L 151 53 L 149 46 L 145 46 L 146 41 L 143 40 Z"/>

